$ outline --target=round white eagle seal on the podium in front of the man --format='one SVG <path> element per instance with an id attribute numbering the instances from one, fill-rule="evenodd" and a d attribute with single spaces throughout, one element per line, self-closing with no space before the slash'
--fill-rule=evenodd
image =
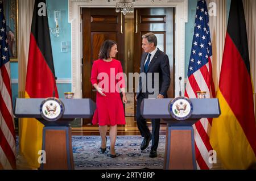
<path id="1" fill-rule="evenodd" d="M 183 121 L 192 115 L 193 104 L 191 100 L 181 96 L 170 102 L 168 110 L 174 119 Z"/>

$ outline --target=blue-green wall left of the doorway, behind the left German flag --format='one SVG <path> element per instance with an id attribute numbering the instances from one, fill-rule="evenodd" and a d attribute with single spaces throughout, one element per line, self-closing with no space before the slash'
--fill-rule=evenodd
<path id="1" fill-rule="evenodd" d="M 60 36 L 51 35 L 53 62 L 55 66 L 55 74 L 58 79 L 71 80 L 71 24 L 68 23 L 68 0 L 47 0 L 47 11 L 49 27 L 55 27 L 54 10 L 61 11 Z M 68 43 L 68 52 L 61 52 L 61 41 Z M 18 62 L 11 62 L 11 78 L 15 83 L 12 84 L 13 102 L 18 97 Z M 60 98 L 64 98 L 64 92 L 72 90 L 71 83 L 58 83 L 58 92 Z"/>

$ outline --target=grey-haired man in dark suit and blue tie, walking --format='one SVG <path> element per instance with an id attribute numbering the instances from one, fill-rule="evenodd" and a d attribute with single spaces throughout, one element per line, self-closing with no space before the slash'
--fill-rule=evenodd
<path id="1" fill-rule="evenodd" d="M 142 36 L 142 48 L 145 53 L 141 59 L 141 74 L 146 73 L 146 79 L 140 77 L 139 79 L 139 90 L 135 96 L 137 101 L 137 125 L 143 138 L 141 144 L 141 150 L 148 147 L 150 140 L 152 139 L 152 146 L 150 151 L 150 157 L 157 157 L 157 148 L 159 142 L 159 130 L 160 130 L 160 119 L 152 119 L 152 134 L 147 127 L 146 119 L 141 115 L 141 103 L 143 99 L 167 98 L 167 90 L 170 86 L 170 63 L 168 56 L 156 48 L 157 39 L 154 33 L 147 33 Z M 151 73 L 151 74 L 150 74 Z M 159 76 L 159 79 L 155 80 Z M 152 77 L 152 79 L 151 79 Z M 151 85 L 148 85 L 151 84 Z M 148 87 L 152 87 L 154 92 L 150 92 Z M 146 91 L 144 91 L 146 90 Z"/>

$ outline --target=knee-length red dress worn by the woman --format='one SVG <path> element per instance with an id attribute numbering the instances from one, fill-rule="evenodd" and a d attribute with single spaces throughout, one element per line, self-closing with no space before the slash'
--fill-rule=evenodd
<path id="1" fill-rule="evenodd" d="M 125 112 L 119 93 L 121 92 L 119 89 L 125 87 L 121 62 L 115 59 L 111 62 L 101 59 L 94 61 L 90 82 L 92 85 L 97 83 L 106 94 L 102 96 L 97 92 L 96 110 L 92 123 L 100 126 L 125 124 Z"/>

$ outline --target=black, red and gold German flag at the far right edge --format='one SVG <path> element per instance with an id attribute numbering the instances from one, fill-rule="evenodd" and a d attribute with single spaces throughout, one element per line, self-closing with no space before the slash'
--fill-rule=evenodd
<path id="1" fill-rule="evenodd" d="M 248 169 L 256 160 L 256 127 L 242 0 L 231 2 L 217 98 L 221 116 L 213 119 L 210 144 L 225 169 Z"/>

